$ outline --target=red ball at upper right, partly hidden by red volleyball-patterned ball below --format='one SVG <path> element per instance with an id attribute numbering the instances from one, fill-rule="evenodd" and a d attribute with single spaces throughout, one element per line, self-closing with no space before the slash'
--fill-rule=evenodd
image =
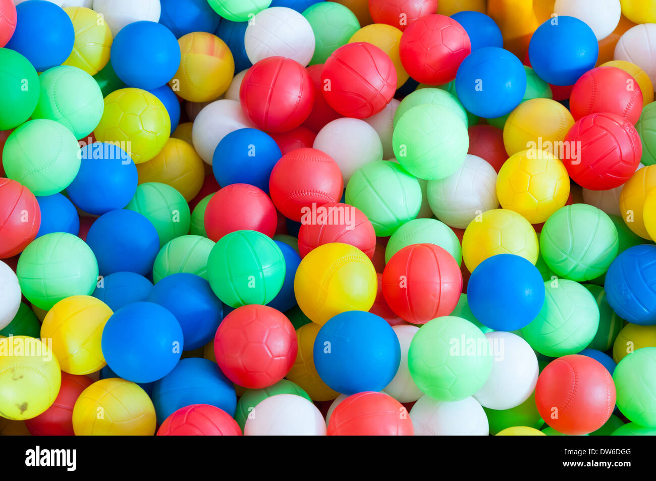
<path id="1" fill-rule="evenodd" d="M 597 112 L 610 112 L 636 125 L 642 114 L 642 91 L 624 70 L 597 67 L 581 75 L 569 97 L 575 120 Z"/>

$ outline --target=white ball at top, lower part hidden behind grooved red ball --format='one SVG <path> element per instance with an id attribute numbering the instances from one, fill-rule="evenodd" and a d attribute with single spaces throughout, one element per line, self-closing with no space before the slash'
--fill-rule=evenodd
<path id="1" fill-rule="evenodd" d="M 262 58 L 283 56 L 306 66 L 314 55 L 314 32 L 296 10 L 271 7 L 249 21 L 244 47 L 253 64 Z"/>

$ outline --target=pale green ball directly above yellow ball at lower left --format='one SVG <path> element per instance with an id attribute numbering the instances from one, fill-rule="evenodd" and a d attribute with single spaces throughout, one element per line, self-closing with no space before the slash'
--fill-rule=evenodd
<path id="1" fill-rule="evenodd" d="M 91 295 L 98 262 L 91 248 L 68 232 L 45 234 L 18 258 L 16 275 L 23 295 L 43 310 L 72 295 Z"/>

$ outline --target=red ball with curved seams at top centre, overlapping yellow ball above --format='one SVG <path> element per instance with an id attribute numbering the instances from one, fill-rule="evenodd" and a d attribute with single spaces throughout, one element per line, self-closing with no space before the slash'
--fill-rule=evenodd
<path id="1" fill-rule="evenodd" d="M 321 92 L 339 114 L 364 119 L 378 114 L 396 92 L 396 68 L 388 54 L 371 43 L 342 45 L 326 60 Z"/>

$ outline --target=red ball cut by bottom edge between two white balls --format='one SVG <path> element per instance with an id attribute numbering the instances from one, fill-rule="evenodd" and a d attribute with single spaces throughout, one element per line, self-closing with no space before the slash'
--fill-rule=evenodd
<path id="1" fill-rule="evenodd" d="M 403 405 L 383 392 L 358 392 L 337 405 L 328 421 L 328 436 L 414 436 Z"/>

